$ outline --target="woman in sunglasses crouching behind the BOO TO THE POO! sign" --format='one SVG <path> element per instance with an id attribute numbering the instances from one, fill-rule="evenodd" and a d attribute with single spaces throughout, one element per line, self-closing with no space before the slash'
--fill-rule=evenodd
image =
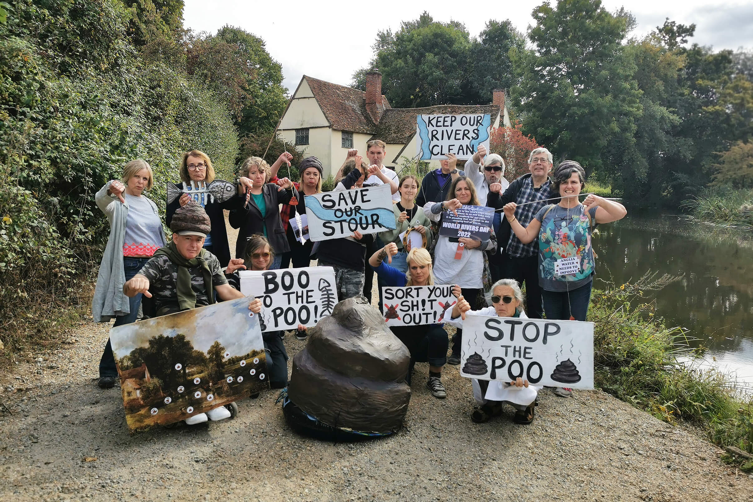
<path id="1" fill-rule="evenodd" d="M 248 238 L 243 257 L 230 260 L 230 265 L 225 270 L 227 282 L 240 291 L 240 275 L 236 270 L 269 270 L 274 260 L 275 251 L 269 240 L 261 234 L 254 234 Z M 249 267 L 244 263 L 248 264 Z M 254 293 L 261 294 L 261 291 Z M 306 327 L 299 324 L 298 330 L 305 333 Z M 264 331 L 261 333 L 261 337 L 264 339 L 264 351 L 267 352 L 267 373 L 270 376 L 271 388 L 288 386 L 288 351 L 285 351 L 285 343 L 282 342 L 283 336 L 285 336 L 285 331 Z"/>

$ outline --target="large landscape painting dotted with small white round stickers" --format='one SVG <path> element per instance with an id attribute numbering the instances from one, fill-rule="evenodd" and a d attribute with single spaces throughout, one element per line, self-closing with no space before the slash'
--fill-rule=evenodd
<path id="1" fill-rule="evenodd" d="M 259 316 L 238 298 L 110 330 L 131 431 L 167 425 L 267 388 Z"/>

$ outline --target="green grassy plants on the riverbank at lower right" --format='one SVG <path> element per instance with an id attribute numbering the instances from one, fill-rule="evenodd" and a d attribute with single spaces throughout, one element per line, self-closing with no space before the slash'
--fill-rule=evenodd
<path id="1" fill-rule="evenodd" d="M 750 448 L 750 424 L 738 412 L 744 397 L 734 382 L 704 369 L 682 330 L 667 330 L 645 298 L 673 279 L 647 274 L 635 284 L 593 291 L 596 385 L 670 424 L 697 425 L 715 443 Z"/>

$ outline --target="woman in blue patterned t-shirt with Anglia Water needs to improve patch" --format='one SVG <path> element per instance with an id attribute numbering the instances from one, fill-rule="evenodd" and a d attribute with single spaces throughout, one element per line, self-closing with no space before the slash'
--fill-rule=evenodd
<path id="1" fill-rule="evenodd" d="M 621 220 L 627 211 L 619 202 L 593 194 L 581 203 L 586 172 L 575 160 L 560 163 L 553 178 L 552 190 L 562 197 L 558 204 L 545 205 L 525 228 L 515 218 L 515 202 L 505 205 L 505 217 L 523 244 L 538 238 L 538 283 L 547 319 L 585 321 L 596 264 L 593 228 Z M 556 388 L 554 393 L 568 397 L 571 391 Z"/>

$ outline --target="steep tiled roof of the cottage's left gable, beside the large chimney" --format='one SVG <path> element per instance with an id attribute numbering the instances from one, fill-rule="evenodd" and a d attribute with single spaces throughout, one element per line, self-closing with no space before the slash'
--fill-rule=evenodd
<path id="1" fill-rule="evenodd" d="M 366 93 L 364 91 L 320 81 L 318 78 L 306 75 L 303 78 L 308 82 L 316 102 L 322 107 L 322 111 L 331 123 L 332 129 L 363 132 L 365 134 L 373 134 L 377 130 L 366 112 Z M 390 108 L 389 101 L 385 96 L 382 96 L 382 103 L 377 105 L 377 108 L 380 112 Z M 415 125 L 413 129 L 415 129 Z"/>

